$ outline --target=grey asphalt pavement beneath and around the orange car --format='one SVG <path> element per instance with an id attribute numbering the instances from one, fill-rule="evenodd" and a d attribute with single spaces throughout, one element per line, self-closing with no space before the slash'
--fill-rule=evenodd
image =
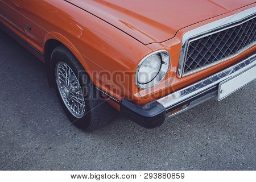
<path id="1" fill-rule="evenodd" d="M 44 65 L 0 31 L 0 169 L 255 170 L 256 81 L 147 130 L 72 126 Z"/>

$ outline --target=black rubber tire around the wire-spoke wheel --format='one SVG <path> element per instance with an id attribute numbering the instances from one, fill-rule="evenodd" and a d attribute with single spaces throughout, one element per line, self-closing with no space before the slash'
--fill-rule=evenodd
<path id="1" fill-rule="evenodd" d="M 84 92 L 85 115 L 82 118 L 75 117 L 71 111 L 68 110 L 61 98 L 55 77 L 56 65 L 59 61 L 68 64 L 78 78 L 82 92 Z M 56 47 L 52 52 L 51 75 L 57 97 L 59 98 L 65 114 L 67 114 L 67 117 L 75 126 L 79 127 L 79 129 L 93 131 L 106 125 L 113 119 L 113 108 L 101 97 L 100 92 L 90 80 L 90 77 L 85 72 L 85 69 L 82 67 L 79 60 L 77 60 L 71 51 L 69 51 L 65 46 Z"/>

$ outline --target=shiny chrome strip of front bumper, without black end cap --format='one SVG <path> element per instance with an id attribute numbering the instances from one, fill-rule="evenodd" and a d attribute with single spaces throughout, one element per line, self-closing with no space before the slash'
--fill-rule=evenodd
<path id="1" fill-rule="evenodd" d="M 240 63 L 233 65 L 224 71 L 218 72 L 212 76 L 205 78 L 204 80 L 198 81 L 195 84 L 189 85 L 186 88 L 183 88 L 177 92 L 169 94 L 166 97 L 160 98 L 157 100 L 162 104 L 166 109 L 179 104 L 180 102 L 187 100 L 197 94 L 205 92 L 212 88 L 213 86 L 218 85 L 220 82 L 229 79 L 231 77 L 237 76 L 242 72 L 247 71 L 250 68 L 256 66 L 256 54 L 248 57 L 247 59 L 241 61 Z"/>

